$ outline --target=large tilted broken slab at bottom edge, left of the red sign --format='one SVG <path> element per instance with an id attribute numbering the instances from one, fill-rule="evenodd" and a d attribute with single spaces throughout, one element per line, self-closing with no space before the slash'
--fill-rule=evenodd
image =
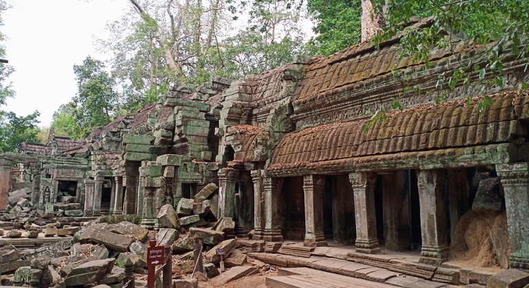
<path id="1" fill-rule="evenodd" d="M 66 286 L 80 286 L 97 283 L 112 272 L 115 259 L 89 261 L 75 267 L 65 278 Z"/>

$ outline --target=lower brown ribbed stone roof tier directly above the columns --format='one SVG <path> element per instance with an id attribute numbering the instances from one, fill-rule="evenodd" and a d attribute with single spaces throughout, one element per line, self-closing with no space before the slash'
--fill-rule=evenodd
<path id="1" fill-rule="evenodd" d="M 293 132 L 273 149 L 268 171 L 295 174 L 300 167 L 317 170 L 337 164 L 350 169 L 355 158 L 365 156 L 510 143 L 526 136 L 520 119 L 529 115 L 528 94 L 507 91 L 491 98 L 492 106 L 481 114 L 477 104 L 466 106 L 459 100 L 395 112 L 367 132 L 365 119 Z"/>

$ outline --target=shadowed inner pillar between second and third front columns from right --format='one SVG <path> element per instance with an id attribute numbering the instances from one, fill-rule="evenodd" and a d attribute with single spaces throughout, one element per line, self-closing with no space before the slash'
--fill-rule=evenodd
<path id="1" fill-rule="evenodd" d="M 382 176 L 382 210 L 385 248 L 409 250 L 409 179 L 407 171 Z"/>

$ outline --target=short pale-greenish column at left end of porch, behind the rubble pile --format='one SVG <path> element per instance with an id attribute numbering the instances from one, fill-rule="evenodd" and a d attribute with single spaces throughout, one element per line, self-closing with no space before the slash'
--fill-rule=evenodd
<path id="1" fill-rule="evenodd" d="M 235 184 L 239 171 L 223 168 L 218 171 L 218 217 L 234 218 Z"/>

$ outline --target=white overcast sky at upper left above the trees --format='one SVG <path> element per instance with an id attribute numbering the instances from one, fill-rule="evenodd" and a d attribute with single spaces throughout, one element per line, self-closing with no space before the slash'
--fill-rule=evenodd
<path id="1" fill-rule="evenodd" d="M 108 21 L 118 19 L 127 0 L 7 0 L 12 8 L 3 13 L 1 32 L 7 59 L 16 71 L 11 75 L 14 99 L 2 110 L 25 116 L 41 112 L 39 125 L 49 126 L 53 112 L 70 101 L 77 86 L 74 64 L 87 56 L 106 60 L 93 38 L 104 38 Z"/>

